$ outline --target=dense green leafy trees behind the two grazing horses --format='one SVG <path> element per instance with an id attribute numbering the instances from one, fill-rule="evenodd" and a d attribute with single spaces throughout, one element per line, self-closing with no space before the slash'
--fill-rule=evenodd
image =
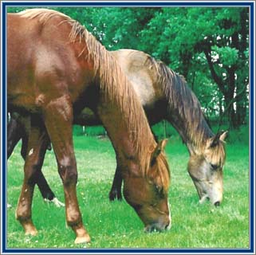
<path id="1" fill-rule="evenodd" d="M 224 113 L 231 127 L 248 123 L 248 8 L 51 9 L 81 22 L 107 49 L 140 49 L 183 74 L 207 116 Z M 241 93 L 236 97 L 235 92 Z"/>

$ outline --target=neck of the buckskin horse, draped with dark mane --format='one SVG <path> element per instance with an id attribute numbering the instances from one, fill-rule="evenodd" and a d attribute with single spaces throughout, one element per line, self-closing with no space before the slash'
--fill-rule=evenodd
<path id="1" fill-rule="evenodd" d="M 163 85 L 163 95 L 167 100 L 166 119 L 179 132 L 186 143 L 190 155 L 201 154 L 207 139 L 213 136 L 203 115 L 199 100 L 185 80 L 165 68 L 167 79 Z"/>

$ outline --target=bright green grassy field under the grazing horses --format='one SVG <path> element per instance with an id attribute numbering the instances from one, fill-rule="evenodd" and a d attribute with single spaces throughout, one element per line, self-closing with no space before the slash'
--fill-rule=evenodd
<path id="1" fill-rule="evenodd" d="M 75 136 L 79 182 L 77 195 L 87 230 L 88 245 L 74 245 L 74 233 L 65 226 L 65 209 L 45 203 L 37 187 L 33 197 L 33 222 L 37 237 L 24 235 L 15 220 L 15 207 L 21 191 L 23 161 L 20 144 L 8 162 L 7 214 L 8 248 L 248 248 L 249 247 L 249 149 L 247 140 L 226 144 L 224 200 L 215 208 L 199 205 L 194 184 L 187 174 L 187 148 L 177 136 L 167 144 L 171 167 L 172 227 L 164 233 L 144 233 L 143 224 L 132 207 L 109 202 L 116 160 L 108 139 Z M 232 139 L 234 138 L 234 139 Z M 43 167 L 49 185 L 64 201 L 61 179 L 53 151 L 48 151 Z"/>

